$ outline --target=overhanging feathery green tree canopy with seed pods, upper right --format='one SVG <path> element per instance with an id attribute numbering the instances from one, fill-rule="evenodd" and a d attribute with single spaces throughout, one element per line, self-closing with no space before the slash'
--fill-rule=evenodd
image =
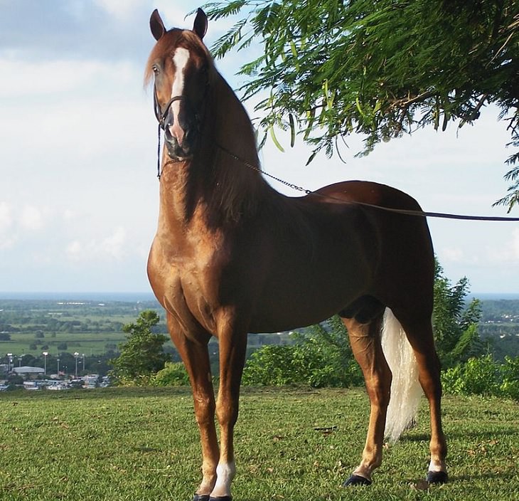
<path id="1" fill-rule="evenodd" d="M 260 96 L 261 126 L 291 129 L 315 154 L 365 135 L 365 149 L 432 126 L 474 122 L 501 110 L 515 150 L 508 194 L 519 203 L 519 2 L 515 0 L 232 0 L 205 6 L 239 20 L 214 45 L 216 57 L 259 42 L 242 66 L 245 98 Z M 266 135 L 265 135 L 266 137 Z"/>

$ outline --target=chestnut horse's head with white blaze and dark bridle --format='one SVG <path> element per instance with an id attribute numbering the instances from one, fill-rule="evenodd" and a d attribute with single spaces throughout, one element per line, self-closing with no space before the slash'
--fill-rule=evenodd
<path id="1" fill-rule="evenodd" d="M 189 159 L 200 135 L 213 65 L 202 42 L 207 16 L 198 9 L 192 31 L 167 31 L 155 10 L 149 25 L 157 41 L 146 67 L 146 80 L 154 77 L 155 115 L 164 129 L 169 157 Z"/>

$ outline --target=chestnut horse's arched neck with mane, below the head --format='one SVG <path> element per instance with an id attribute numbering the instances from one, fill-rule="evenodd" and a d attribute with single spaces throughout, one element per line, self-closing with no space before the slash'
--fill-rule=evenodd
<path id="1" fill-rule="evenodd" d="M 238 223 L 252 216 L 268 185 L 248 164 L 259 167 L 255 135 L 247 113 L 217 75 L 208 95 L 200 152 L 189 162 L 168 166 L 161 183 L 164 216 L 208 226 Z"/>

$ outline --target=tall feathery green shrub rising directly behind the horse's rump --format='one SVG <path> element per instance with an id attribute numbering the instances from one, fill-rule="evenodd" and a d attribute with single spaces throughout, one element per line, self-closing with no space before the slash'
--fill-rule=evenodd
<path id="1" fill-rule="evenodd" d="M 469 280 L 466 277 L 451 285 L 442 266 L 436 263 L 433 328 L 438 356 L 444 367 L 485 352 L 478 334 L 481 302 L 473 299 L 466 306 L 468 294 Z"/>

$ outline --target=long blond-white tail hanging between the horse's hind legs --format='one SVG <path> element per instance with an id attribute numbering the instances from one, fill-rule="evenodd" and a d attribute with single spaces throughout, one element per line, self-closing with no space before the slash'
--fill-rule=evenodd
<path id="1" fill-rule="evenodd" d="M 385 310 L 382 324 L 382 351 L 393 375 L 385 436 L 395 442 L 416 421 L 422 386 L 418 381 L 418 364 L 412 347 L 402 325 L 389 308 Z"/>

